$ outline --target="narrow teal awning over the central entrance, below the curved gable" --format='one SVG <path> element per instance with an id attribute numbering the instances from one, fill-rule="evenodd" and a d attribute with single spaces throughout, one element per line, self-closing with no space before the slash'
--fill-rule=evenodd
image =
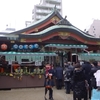
<path id="1" fill-rule="evenodd" d="M 55 48 L 88 48 L 86 45 L 65 45 L 65 44 L 47 44 L 45 47 L 55 47 Z"/>

